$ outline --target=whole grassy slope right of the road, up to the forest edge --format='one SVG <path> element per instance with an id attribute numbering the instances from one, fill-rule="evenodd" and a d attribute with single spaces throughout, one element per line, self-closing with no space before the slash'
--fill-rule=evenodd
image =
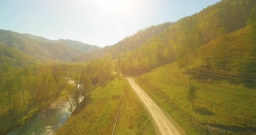
<path id="1" fill-rule="evenodd" d="M 243 63 L 253 56 L 245 55 L 250 46 L 247 37 L 248 26 L 209 42 L 194 51 L 188 58 L 193 67 L 223 70 L 223 43 L 226 45 L 226 71 L 250 72 Z M 220 50 L 221 49 L 221 50 Z M 255 81 L 216 77 L 191 72 L 191 85 L 196 87 L 194 106 L 188 100 L 190 80 L 185 67 L 180 68 L 175 61 L 158 67 L 149 73 L 136 77 L 136 82 L 163 107 L 171 117 L 190 135 L 210 134 L 255 134 L 256 133 L 256 92 Z M 216 64 L 220 63 L 220 64 Z M 197 68 L 198 69 L 198 68 Z M 216 71 L 215 71 L 216 72 Z M 241 74 L 240 74 L 241 75 Z M 244 74 L 243 74 L 244 75 Z M 234 76 L 223 75 L 222 76 Z M 247 75 L 249 76 L 249 75 Z M 237 77 L 237 76 L 235 76 Z M 255 79 L 255 75 L 253 79 Z M 241 77 L 240 78 L 244 78 Z"/>

